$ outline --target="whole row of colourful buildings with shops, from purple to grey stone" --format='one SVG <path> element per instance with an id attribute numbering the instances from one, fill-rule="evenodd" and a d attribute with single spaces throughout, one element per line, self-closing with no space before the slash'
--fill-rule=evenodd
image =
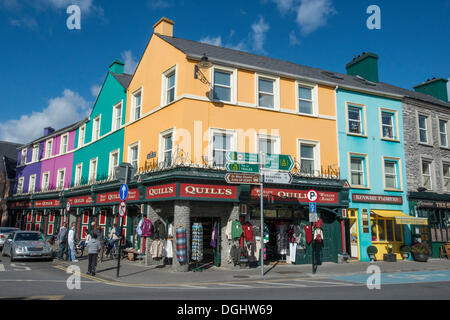
<path id="1" fill-rule="evenodd" d="M 191 225 L 202 223 L 205 259 L 227 265 L 228 222 L 241 219 L 260 232 L 260 190 L 226 183 L 225 154 L 265 152 L 295 160 L 293 183 L 264 191 L 271 259 L 286 260 L 276 241 L 285 228 L 309 223 L 310 189 L 320 194 L 323 261 L 367 261 L 370 245 L 382 259 L 388 244 L 399 254 L 417 234 L 433 252 L 449 240 L 445 80 L 414 92 L 379 82 L 372 53 L 339 74 L 177 38 L 173 26 L 166 18 L 155 24 L 134 75 L 113 62 L 87 119 L 47 129 L 20 150 L 12 223 L 39 221 L 49 233 L 49 225 L 76 221 L 81 238 L 92 221 L 108 231 L 118 221 L 115 169 L 127 162 L 136 169 L 127 245 L 142 245 L 135 229 L 144 215 L 185 227 L 188 248 Z M 214 225 L 219 246 L 210 248 Z M 310 260 L 310 248 L 299 245 L 295 262 Z M 176 259 L 173 266 L 187 269 Z"/>

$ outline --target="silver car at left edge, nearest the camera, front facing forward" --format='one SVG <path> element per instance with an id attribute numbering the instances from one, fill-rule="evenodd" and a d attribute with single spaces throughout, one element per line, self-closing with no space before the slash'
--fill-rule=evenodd
<path id="1" fill-rule="evenodd" d="M 52 246 L 44 235 L 37 231 L 15 231 L 5 241 L 3 256 L 10 256 L 11 262 L 17 259 L 48 259 L 53 257 Z"/>

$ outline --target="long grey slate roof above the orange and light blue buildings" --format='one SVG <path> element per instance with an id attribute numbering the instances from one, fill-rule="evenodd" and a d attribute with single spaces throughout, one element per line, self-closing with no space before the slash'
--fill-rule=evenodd
<path id="1" fill-rule="evenodd" d="M 169 37 L 161 34 L 156 35 L 173 47 L 185 53 L 188 58 L 192 59 L 199 60 L 203 56 L 203 54 L 206 54 L 211 62 L 216 62 L 219 64 L 223 63 L 235 67 L 241 67 L 243 69 L 273 72 L 274 74 L 284 75 L 286 77 L 298 77 L 305 80 L 312 80 L 321 84 L 329 84 L 333 86 L 338 85 L 342 88 L 363 90 L 367 91 L 368 93 L 373 92 L 398 98 L 407 96 L 413 99 L 418 99 L 421 101 L 434 103 L 450 108 L 450 103 L 443 102 L 432 96 L 403 89 L 383 82 L 374 83 L 367 81 L 361 77 L 312 68 L 293 62 L 264 57 L 248 52 L 217 47 L 202 42 L 196 42 L 177 37 Z"/>

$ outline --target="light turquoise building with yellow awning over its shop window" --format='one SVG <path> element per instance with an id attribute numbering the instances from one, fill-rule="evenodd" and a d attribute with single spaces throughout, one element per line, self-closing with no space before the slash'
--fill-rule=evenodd
<path id="1" fill-rule="evenodd" d="M 411 243 L 401 220 L 409 214 L 402 101 L 337 89 L 336 103 L 341 178 L 350 184 L 347 253 L 369 261 L 373 245 L 382 260 L 392 245 L 401 259 L 400 247 Z"/>

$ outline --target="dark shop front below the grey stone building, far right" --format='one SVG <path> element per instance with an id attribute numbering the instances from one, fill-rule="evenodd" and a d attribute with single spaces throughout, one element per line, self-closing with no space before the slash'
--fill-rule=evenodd
<path id="1" fill-rule="evenodd" d="M 411 192 L 410 208 L 427 224 L 413 229 L 415 238 L 428 242 L 433 258 L 440 258 L 440 250 L 450 241 L 450 196 L 428 192 Z"/>

